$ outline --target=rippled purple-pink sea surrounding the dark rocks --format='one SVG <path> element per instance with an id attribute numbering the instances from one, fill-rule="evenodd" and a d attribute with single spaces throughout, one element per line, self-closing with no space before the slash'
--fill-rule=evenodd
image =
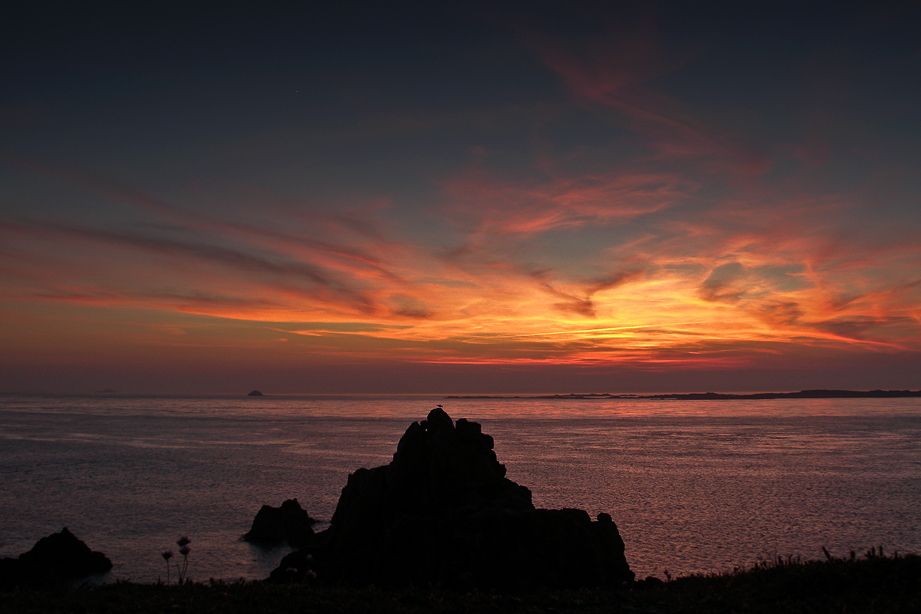
<path id="1" fill-rule="evenodd" d="M 329 520 L 348 474 L 389 462 L 435 404 L 496 441 L 535 505 L 609 512 L 639 577 L 871 546 L 921 552 L 921 399 L 0 397 L 0 556 L 67 526 L 156 582 L 263 578 L 240 540 L 262 504 Z"/>

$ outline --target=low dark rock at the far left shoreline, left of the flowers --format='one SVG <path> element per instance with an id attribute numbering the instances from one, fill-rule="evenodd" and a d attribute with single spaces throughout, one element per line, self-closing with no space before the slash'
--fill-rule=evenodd
<path id="1" fill-rule="evenodd" d="M 106 573 L 112 561 L 64 527 L 43 537 L 17 559 L 0 559 L 0 586 L 50 585 Z"/>

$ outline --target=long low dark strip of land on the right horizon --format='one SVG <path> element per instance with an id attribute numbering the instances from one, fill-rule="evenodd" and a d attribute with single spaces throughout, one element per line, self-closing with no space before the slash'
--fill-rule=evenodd
<path id="1" fill-rule="evenodd" d="M 453 395 L 447 399 L 636 399 L 662 401 L 736 401 L 760 399 L 896 399 L 921 397 L 921 390 L 800 390 L 799 392 L 756 392 L 733 394 L 720 392 L 692 392 L 669 394 L 612 394 L 607 392 L 570 393 L 550 395 Z"/>

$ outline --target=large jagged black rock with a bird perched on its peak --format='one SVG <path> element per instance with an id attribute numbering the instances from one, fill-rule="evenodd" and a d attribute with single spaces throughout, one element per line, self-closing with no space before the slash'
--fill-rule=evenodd
<path id="1" fill-rule="evenodd" d="M 608 514 L 535 509 L 505 477 L 493 439 L 440 407 L 413 422 L 393 461 L 351 474 L 317 535 L 321 579 L 458 588 L 620 586 L 633 580 Z M 277 571 L 277 570 L 276 570 Z"/>

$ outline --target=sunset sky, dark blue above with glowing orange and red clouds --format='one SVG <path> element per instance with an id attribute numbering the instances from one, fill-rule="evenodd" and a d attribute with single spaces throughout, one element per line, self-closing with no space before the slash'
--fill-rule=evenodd
<path id="1" fill-rule="evenodd" d="M 0 9 L 0 392 L 921 388 L 910 3 Z"/>

